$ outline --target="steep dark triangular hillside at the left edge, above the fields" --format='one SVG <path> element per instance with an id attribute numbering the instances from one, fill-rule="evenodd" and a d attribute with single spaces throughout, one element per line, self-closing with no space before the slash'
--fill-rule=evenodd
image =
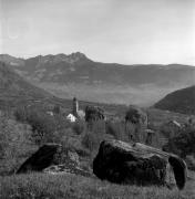
<path id="1" fill-rule="evenodd" d="M 0 62 L 0 106 L 17 106 L 34 102 L 54 102 L 57 97 L 31 85 L 12 69 Z"/>

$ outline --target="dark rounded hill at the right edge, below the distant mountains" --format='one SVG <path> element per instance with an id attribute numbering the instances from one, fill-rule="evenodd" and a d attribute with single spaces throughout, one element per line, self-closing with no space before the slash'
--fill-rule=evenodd
<path id="1" fill-rule="evenodd" d="M 170 93 L 154 107 L 182 114 L 195 114 L 195 85 Z"/>

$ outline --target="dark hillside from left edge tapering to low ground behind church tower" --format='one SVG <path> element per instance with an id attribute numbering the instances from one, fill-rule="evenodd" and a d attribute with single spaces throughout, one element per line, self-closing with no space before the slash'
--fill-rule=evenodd
<path id="1" fill-rule="evenodd" d="M 53 108 L 59 105 L 66 112 L 72 111 L 72 98 L 59 98 L 39 88 L 17 74 L 10 66 L 0 62 L 0 109 L 7 107 L 17 107 L 24 105 L 35 105 L 41 108 Z M 103 107 L 111 115 L 122 112 L 124 113 L 126 106 L 112 104 L 98 104 L 93 102 L 80 101 L 80 108 L 84 109 L 86 105 L 98 105 Z"/>

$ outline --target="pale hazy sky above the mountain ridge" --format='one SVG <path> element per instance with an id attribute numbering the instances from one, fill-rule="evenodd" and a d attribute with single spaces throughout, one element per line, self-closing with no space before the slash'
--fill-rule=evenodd
<path id="1" fill-rule="evenodd" d="M 0 53 L 195 65 L 195 0 L 0 0 Z"/>

